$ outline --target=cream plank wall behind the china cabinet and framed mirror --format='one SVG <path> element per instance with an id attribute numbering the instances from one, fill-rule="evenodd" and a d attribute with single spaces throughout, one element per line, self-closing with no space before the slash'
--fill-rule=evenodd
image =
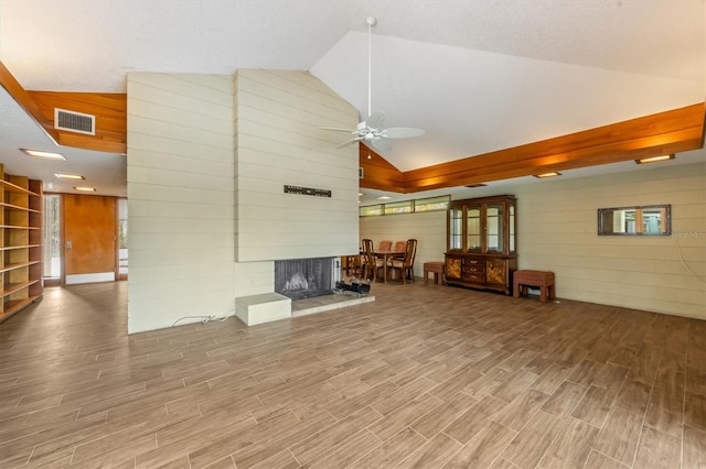
<path id="1" fill-rule="evenodd" d="M 509 193 L 517 196 L 520 269 L 554 271 L 560 298 L 706 319 L 706 163 L 542 181 Z M 454 198 L 498 194 L 469 189 Z M 597 234 L 598 208 L 656 204 L 672 205 L 672 237 Z M 419 249 L 442 259 L 442 216 L 364 217 L 361 237 L 399 237 L 403 227 L 431 232 L 434 223 L 442 237 L 427 236 L 430 246 L 420 241 Z"/>

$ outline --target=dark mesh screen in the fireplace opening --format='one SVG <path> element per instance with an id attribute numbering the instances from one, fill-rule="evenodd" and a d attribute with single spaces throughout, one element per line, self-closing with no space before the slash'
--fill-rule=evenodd
<path id="1" fill-rule="evenodd" d="M 291 299 L 333 293 L 335 258 L 275 261 L 275 292 Z"/>

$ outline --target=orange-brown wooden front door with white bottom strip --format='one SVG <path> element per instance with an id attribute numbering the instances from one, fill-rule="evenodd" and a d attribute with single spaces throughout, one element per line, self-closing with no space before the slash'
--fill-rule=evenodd
<path id="1" fill-rule="evenodd" d="M 64 196 L 66 282 L 115 280 L 116 199 L 108 196 Z M 113 276 L 110 277 L 110 273 Z"/>

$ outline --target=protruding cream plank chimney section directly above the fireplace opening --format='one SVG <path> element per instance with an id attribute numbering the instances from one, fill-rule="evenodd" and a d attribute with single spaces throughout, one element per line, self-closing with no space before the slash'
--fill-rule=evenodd
<path id="1" fill-rule="evenodd" d="M 307 72 L 239 69 L 237 257 L 240 262 L 357 250 L 357 152 L 319 129 L 355 126 L 357 111 Z M 331 190 L 285 194 L 284 186 Z"/>

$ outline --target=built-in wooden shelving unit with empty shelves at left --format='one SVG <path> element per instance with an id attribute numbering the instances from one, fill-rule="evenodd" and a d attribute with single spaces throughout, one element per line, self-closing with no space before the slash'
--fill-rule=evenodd
<path id="1" fill-rule="evenodd" d="M 0 321 L 42 296 L 42 182 L 0 164 Z"/>

